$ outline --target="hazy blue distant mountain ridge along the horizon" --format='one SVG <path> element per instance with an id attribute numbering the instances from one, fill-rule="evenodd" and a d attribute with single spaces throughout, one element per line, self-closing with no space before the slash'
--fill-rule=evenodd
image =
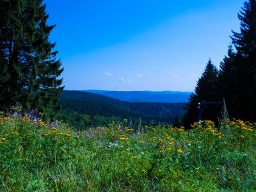
<path id="1" fill-rule="evenodd" d="M 152 91 L 106 91 L 106 90 L 84 90 L 84 92 L 96 93 L 111 97 L 113 99 L 128 102 L 188 102 L 189 95 L 193 92 L 152 92 Z"/>

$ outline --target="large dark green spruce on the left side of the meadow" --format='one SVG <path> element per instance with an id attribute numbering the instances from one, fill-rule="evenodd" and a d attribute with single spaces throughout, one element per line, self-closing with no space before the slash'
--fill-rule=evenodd
<path id="1" fill-rule="evenodd" d="M 51 115 L 63 68 L 49 40 L 54 26 L 42 0 L 0 0 L 0 108 L 17 103 Z"/>

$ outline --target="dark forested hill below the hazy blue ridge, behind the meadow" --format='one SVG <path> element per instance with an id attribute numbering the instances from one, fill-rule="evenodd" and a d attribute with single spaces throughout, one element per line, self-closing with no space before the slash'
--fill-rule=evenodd
<path id="1" fill-rule="evenodd" d="M 141 117 L 146 122 L 172 123 L 185 112 L 185 103 L 125 102 L 95 93 L 66 90 L 61 93 L 60 104 L 60 118 L 67 119 L 72 116 L 78 118 L 76 121 L 83 120 L 81 115 L 87 115 L 90 120 L 95 116 L 134 119 Z"/>

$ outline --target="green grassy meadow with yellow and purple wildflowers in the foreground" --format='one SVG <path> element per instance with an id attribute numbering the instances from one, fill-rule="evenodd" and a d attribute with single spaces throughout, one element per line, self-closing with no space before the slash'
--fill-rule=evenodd
<path id="1" fill-rule="evenodd" d="M 255 191 L 256 124 L 193 129 L 122 122 L 74 131 L 31 115 L 0 118 L 0 191 Z"/>

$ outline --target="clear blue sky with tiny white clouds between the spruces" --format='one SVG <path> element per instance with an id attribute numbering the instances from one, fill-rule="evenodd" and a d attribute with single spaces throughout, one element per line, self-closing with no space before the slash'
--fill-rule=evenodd
<path id="1" fill-rule="evenodd" d="M 193 91 L 242 0 L 45 0 L 66 90 Z"/>

